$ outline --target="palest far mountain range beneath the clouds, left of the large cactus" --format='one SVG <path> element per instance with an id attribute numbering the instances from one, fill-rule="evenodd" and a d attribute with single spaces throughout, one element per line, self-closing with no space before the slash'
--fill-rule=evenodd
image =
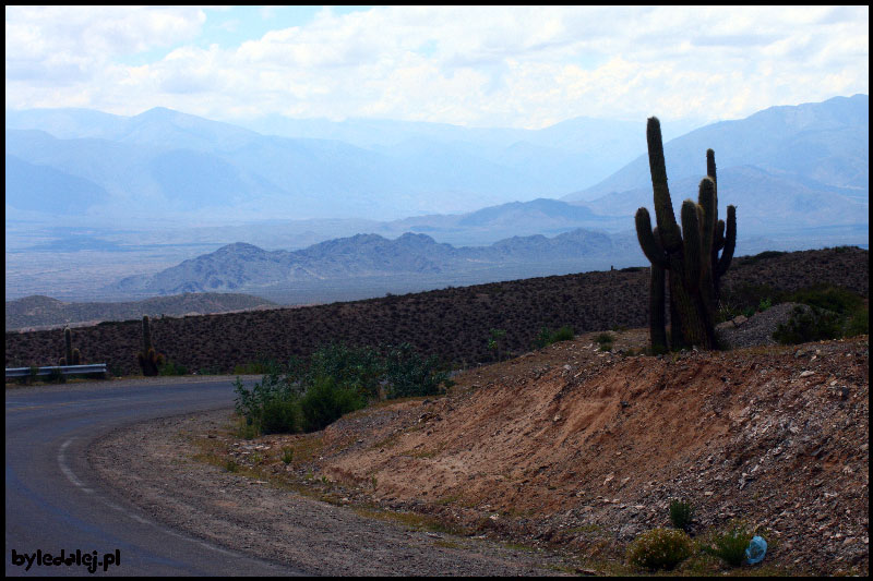
<path id="1" fill-rule="evenodd" d="M 286 121 L 276 128 L 294 123 Z M 289 137 L 165 108 L 134 117 L 8 111 L 5 142 L 7 153 L 27 164 L 104 189 L 111 196 L 103 204 L 107 215 L 208 210 L 218 219 L 470 211 L 594 183 L 645 146 L 642 123 L 588 119 L 540 131 L 299 124 L 304 129 Z M 23 181 L 19 169 L 7 169 L 12 181 Z"/>

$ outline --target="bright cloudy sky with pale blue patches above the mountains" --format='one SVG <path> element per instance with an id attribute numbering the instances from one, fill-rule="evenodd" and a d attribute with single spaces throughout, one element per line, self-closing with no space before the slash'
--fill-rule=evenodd
<path id="1" fill-rule="evenodd" d="M 7 7 L 7 109 L 540 129 L 869 94 L 869 7 Z"/>

